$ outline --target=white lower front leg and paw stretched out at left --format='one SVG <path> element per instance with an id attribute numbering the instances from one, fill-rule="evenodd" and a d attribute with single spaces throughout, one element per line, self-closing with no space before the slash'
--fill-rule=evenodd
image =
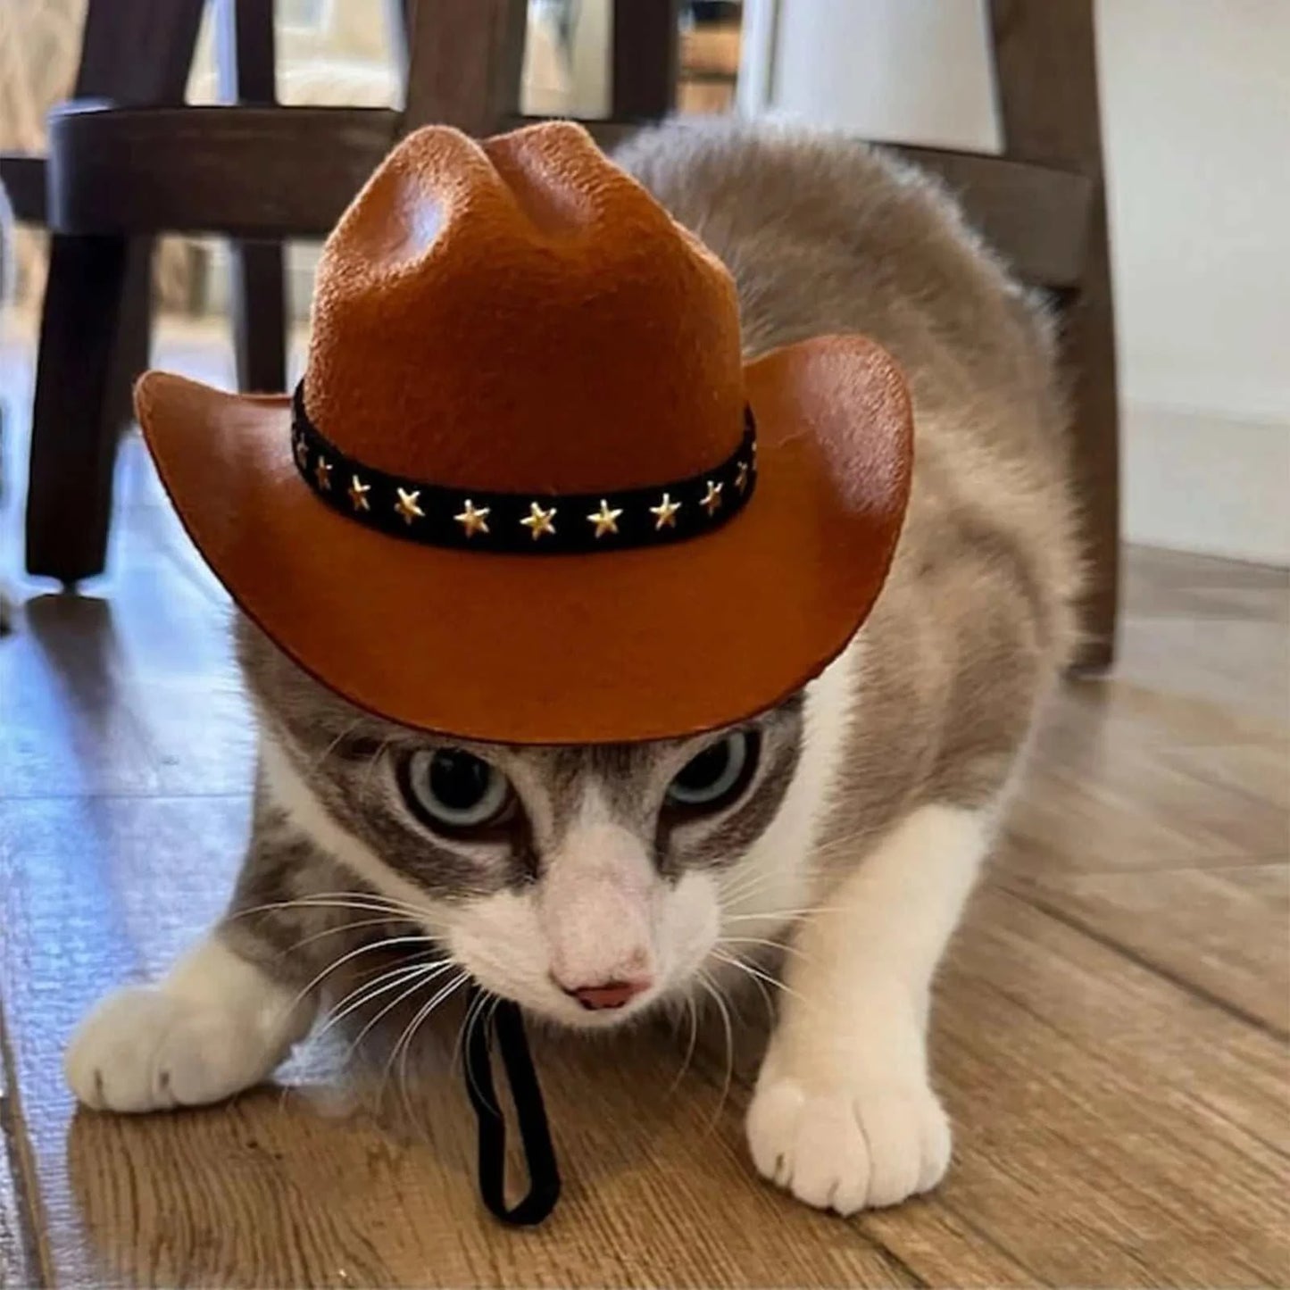
<path id="1" fill-rule="evenodd" d="M 268 1076 L 315 1007 L 215 930 L 156 986 L 103 998 L 72 1036 L 63 1069 L 77 1100 L 98 1111 L 219 1102 Z"/>

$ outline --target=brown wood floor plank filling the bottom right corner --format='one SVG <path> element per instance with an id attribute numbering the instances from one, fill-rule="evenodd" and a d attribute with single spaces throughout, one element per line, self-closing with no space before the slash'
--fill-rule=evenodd
<path id="1" fill-rule="evenodd" d="M 940 983 L 934 1051 L 958 1130 L 937 1204 L 1037 1280 L 1290 1276 L 1284 1044 L 986 891 Z"/>

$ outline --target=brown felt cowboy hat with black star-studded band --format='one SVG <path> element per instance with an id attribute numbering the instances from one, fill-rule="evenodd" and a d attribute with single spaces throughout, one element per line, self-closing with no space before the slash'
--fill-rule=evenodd
<path id="1" fill-rule="evenodd" d="M 192 541 L 295 662 L 506 743 L 728 725 L 837 655 L 909 486 L 891 359 L 744 365 L 726 270 L 577 125 L 409 135 L 328 239 L 294 399 L 164 373 Z"/>

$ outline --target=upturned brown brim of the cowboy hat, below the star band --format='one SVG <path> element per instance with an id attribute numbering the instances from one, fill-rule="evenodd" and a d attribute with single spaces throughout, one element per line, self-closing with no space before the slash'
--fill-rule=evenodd
<path id="1" fill-rule="evenodd" d="M 194 543 L 302 668 L 400 725 L 519 744 L 671 738 L 773 707 L 846 646 L 909 488 L 908 396 L 862 337 L 747 368 L 759 482 L 713 533 L 519 556 L 390 538 L 292 461 L 290 402 L 148 373 L 137 409 Z"/>

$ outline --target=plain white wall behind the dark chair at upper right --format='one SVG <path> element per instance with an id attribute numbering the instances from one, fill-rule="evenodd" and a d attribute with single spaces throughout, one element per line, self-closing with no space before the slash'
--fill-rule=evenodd
<path id="1" fill-rule="evenodd" d="M 744 106 L 995 151 L 984 0 L 746 0 Z M 1290 0 L 1100 0 L 1125 531 L 1290 564 Z"/>

